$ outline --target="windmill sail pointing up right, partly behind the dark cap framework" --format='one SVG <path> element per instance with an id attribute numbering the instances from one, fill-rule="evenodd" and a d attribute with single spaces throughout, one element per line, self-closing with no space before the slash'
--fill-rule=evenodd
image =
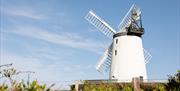
<path id="1" fill-rule="evenodd" d="M 134 15 L 133 15 L 134 14 Z M 134 4 L 131 6 L 121 23 L 118 25 L 119 32 L 125 32 L 125 28 L 130 26 L 132 19 L 137 21 L 140 19 L 140 8 L 135 6 Z"/>

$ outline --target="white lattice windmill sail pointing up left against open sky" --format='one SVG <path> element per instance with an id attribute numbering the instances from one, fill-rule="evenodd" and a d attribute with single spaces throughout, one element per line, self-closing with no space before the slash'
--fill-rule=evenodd
<path id="1" fill-rule="evenodd" d="M 92 10 L 90 10 L 89 13 L 85 16 L 85 19 L 109 38 L 112 38 L 112 36 L 116 33 L 116 31 L 110 27 L 109 24 L 97 16 Z"/>

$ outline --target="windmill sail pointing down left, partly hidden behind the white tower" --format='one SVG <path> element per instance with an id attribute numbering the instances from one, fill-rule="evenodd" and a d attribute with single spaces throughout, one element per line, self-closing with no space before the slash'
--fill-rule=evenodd
<path id="1" fill-rule="evenodd" d="M 100 61 L 96 66 L 96 69 L 101 73 L 106 72 L 111 66 L 111 60 L 112 60 L 112 44 L 104 52 L 103 56 L 101 57 Z"/>

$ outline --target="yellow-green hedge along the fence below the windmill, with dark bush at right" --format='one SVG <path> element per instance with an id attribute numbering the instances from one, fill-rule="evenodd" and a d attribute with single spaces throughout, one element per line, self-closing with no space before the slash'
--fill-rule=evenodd
<path id="1" fill-rule="evenodd" d="M 180 70 L 173 76 L 169 76 L 167 83 L 141 84 L 140 91 L 180 91 Z M 75 85 L 71 86 L 75 90 Z M 92 83 L 85 81 L 82 91 L 133 91 L 133 84 L 123 83 Z"/>

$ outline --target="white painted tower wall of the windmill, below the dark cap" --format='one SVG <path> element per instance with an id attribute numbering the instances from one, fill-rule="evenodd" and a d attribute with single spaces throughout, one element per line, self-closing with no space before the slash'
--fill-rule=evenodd
<path id="1" fill-rule="evenodd" d="M 116 44 L 116 39 L 118 43 Z M 132 81 L 133 77 L 147 79 L 142 39 L 138 36 L 124 35 L 114 38 L 110 79 L 119 82 Z M 117 50 L 117 55 L 115 55 Z M 113 78 L 114 76 L 115 78 Z"/>

